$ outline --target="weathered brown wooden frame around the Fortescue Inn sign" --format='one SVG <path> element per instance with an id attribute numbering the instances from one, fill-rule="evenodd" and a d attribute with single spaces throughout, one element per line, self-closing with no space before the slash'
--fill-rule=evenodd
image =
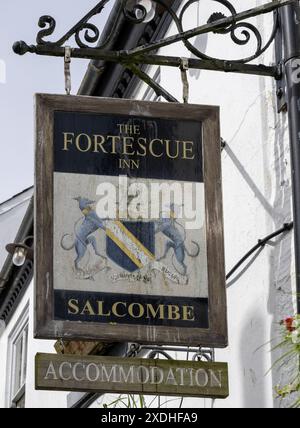
<path id="1" fill-rule="evenodd" d="M 209 327 L 122 325 L 54 319 L 53 158 L 55 112 L 138 115 L 202 124 Z M 219 108 L 82 96 L 36 95 L 35 337 L 40 339 L 227 346 Z"/>

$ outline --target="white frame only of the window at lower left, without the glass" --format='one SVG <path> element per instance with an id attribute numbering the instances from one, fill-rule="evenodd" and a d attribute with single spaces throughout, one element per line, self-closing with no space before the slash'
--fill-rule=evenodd
<path id="1" fill-rule="evenodd" d="M 26 390 L 26 375 L 27 375 L 27 357 L 28 357 L 28 338 L 29 338 L 29 303 L 26 304 L 21 316 L 13 327 L 8 337 L 7 349 L 7 408 L 17 407 L 17 403 L 25 395 Z M 21 360 L 21 386 L 18 391 L 14 391 L 17 368 L 17 343 L 22 340 L 22 360 Z M 25 352 L 24 352 L 25 349 Z M 24 373 L 24 367 L 26 373 Z"/>

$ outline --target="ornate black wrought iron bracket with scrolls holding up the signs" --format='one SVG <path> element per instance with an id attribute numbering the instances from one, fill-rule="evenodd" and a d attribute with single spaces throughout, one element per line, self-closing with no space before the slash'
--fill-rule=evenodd
<path id="1" fill-rule="evenodd" d="M 121 1 L 122 7 L 120 8 L 119 15 L 123 13 L 125 18 L 132 24 L 140 24 L 147 19 L 149 11 L 146 9 L 143 3 L 139 3 L 138 0 L 136 1 L 136 4 L 129 0 Z M 273 11 L 276 12 L 280 7 L 294 3 L 297 0 L 274 0 L 260 7 L 249 9 L 241 13 L 237 13 L 233 5 L 228 0 L 212 1 L 215 1 L 219 3 L 219 5 L 225 7 L 228 10 L 230 16 L 225 16 L 225 14 L 221 12 L 216 12 L 209 17 L 207 24 L 185 31 L 183 24 L 185 14 L 190 6 L 198 2 L 198 0 L 188 0 L 180 11 L 179 16 L 177 16 L 177 14 L 165 0 L 152 0 L 154 6 L 160 7 L 171 15 L 177 27 L 178 33 L 174 36 L 155 41 L 154 43 L 149 43 L 148 45 L 138 46 L 130 51 L 109 51 L 106 49 L 112 35 L 114 34 L 119 16 L 117 16 L 115 23 L 111 28 L 110 34 L 104 41 L 101 41 L 101 32 L 99 28 L 90 22 L 91 18 L 102 12 L 110 0 L 100 1 L 64 36 L 54 42 L 47 40 L 47 37 L 54 34 L 56 29 L 56 21 L 50 16 L 42 16 L 38 23 L 41 30 L 37 34 L 37 44 L 29 46 L 25 42 L 20 41 L 14 44 L 13 49 L 15 53 L 20 55 L 30 52 L 36 53 L 38 55 L 63 57 L 65 52 L 64 45 L 66 42 L 70 41 L 70 39 L 75 38 L 76 47 L 73 47 L 72 49 L 73 58 L 106 60 L 122 63 L 124 65 L 149 64 L 180 67 L 181 58 L 158 56 L 154 55 L 153 51 L 157 51 L 162 47 L 169 46 L 177 42 L 183 42 L 185 47 L 193 54 L 194 57 L 196 57 L 194 59 L 188 60 L 189 68 L 258 74 L 278 78 L 279 76 L 277 67 L 269 67 L 261 64 L 249 64 L 251 61 L 259 58 L 274 41 L 278 29 L 277 20 L 275 19 L 273 31 L 266 43 L 263 43 L 259 30 L 252 23 L 249 23 L 245 20 L 261 14 L 266 14 Z M 238 46 L 245 46 L 254 38 L 256 42 L 255 52 L 246 58 L 240 58 L 238 60 L 213 58 L 208 56 L 206 53 L 201 52 L 190 41 L 195 36 L 207 33 L 223 35 L 229 34 L 232 41 Z"/>

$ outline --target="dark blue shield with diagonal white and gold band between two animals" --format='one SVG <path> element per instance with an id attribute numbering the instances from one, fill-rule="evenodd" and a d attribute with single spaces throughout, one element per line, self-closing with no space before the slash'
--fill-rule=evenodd
<path id="1" fill-rule="evenodd" d="M 114 222 L 106 237 L 107 256 L 122 269 L 135 272 L 155 260 L 155 223 Z M 111 232 L 111 233 L 110 233 Z"/>

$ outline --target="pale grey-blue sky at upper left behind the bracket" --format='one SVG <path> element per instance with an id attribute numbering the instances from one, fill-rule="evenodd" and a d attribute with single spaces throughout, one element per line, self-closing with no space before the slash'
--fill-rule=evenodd
<path id="1" fill-rule="evenodd" d="M 34 182 L 34 94 L 64 93 L 62 58 L 18 56 L 12 45 L 18 40 L 35 44 L 43 15 L 56 19 L 49 41 L 58 40 L 96 4 L 97 0 L 0 1 L 0 203 Z M 99 29 L 110 7 L 97 16 Z M 86 60 L 72 61 L 72 94 L 77 93 L 87 66 Z"/>

